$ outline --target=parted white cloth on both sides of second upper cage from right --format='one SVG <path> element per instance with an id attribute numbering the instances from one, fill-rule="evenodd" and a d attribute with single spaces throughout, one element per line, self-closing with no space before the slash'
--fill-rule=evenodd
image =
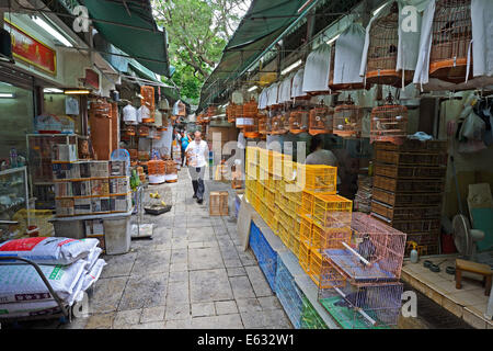
<path id="1" fill-rule="evenodd" d="M 424 9 L 428 0 L 398 0 L 399 5 L 399 44 L 398 44 L 398 58 L 397 58 L 397 66 L 395 71 L 399 70 L 414 70 L 416 67 L 417 61 L 417 49 L 420 48 L 420 36 L 421 36 L 421 23 L 422 23 L 422 12 L 420 10 Z M 366 27 L 366 34 L 365 34 L 365 45 L 363 48 L 363 55 L 362 55 L 362 66 L 359 68 L 359 76 L 365 77 L 366 76 L 366 68 L 367 68 L 367 59 L 368 59 L 368 48 L 370 45 L 370 30 L 371 24 L 377 21 L 378 19 L 388 15 L 390 13 L 390 8 L 392 3 L 395 2 L 394 0 L 391 0 L 385 4 L 385 7 L 378 12 L 376 15 L 374 15 L 368 23 L 368 26 Z M 416 11 L 416 31 L 408 30 L 408 20 L 409 16 L 413 15 L 413 13 L 410 14 L 410 12 L 403 11 L 403 9 L 408 5 L 414 7 Z M 405 30 L 404 30 L 405 29 Z"/>

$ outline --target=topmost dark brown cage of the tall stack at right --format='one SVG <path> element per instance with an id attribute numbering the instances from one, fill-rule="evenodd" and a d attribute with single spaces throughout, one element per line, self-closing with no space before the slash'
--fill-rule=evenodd
<path id="1" fill-rule="evenodd" d="M 391 165 L 447 166 L 447 154 L 375 150 L 375 161 Z"/>

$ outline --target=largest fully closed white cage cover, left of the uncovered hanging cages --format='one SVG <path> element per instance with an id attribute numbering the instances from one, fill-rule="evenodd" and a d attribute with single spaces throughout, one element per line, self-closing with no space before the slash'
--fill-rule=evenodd
<path id="1" fill-rule="evenodd" d="M 365 46 L 365 29 L 360 24 L 352 24 L 335 41 L 333 84 L 362 83 L 359 67 L 363 47 Z"/>

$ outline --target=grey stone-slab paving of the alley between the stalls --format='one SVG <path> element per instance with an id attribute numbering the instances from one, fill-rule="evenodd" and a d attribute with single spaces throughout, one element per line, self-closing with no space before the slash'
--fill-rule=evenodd
<path id="1" fill-rule="evenodd" d="M 211 181 L 206 188 L 231 191 Z M 254 254 L 239 246 L 236 222 L 209 217 L 207 201 L 192 199 L 187 169 L 177 183 L 149 185 L 146 193 L 158 189 L 173 207 L 144 216 L 154 223 L 152 239 L 106 256 L 90 295 L 91 316 L 61 328 L 293 328 Z M 233 208 L 230 201 L 231 216 Z"/>

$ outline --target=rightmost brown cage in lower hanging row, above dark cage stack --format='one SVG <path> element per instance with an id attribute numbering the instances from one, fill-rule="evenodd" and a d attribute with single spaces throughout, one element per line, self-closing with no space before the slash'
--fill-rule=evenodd
<path id="1" fill-rule="evenodd" d="M 408 107 L 393 103 L 389 92 L 387 103 L 371 110 L 370 143 L 404 143 L 408 131 Z"/>

